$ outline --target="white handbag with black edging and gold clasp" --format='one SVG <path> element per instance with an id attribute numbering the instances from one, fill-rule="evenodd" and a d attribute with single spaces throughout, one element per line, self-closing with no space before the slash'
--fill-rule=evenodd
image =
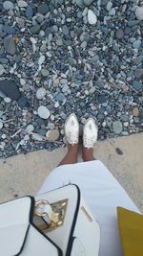
<path id="1" fill-rule="evenodd" d="M 0 205 L 1 256 L 97 256 L 100 228 L 76 185 Z"/>

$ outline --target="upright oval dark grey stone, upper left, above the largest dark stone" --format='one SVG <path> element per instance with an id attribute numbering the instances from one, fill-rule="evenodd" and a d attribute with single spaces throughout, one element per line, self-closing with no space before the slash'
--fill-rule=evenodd
<path id="1" fill-rule="evenodd" d="M 15 41 L 14 38 L 11 37 L 10 35 L 6 36 L 4 38 L 4 47 L 5 50 L 8 54 L 14 55 L 16 52 L 16 47 L 15 47 Z"/>

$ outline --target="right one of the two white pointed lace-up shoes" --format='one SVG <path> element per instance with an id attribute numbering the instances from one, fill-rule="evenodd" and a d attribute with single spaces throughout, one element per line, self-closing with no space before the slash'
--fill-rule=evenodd
<path id="1" fill-rule="evenodd" d="M 85 148 L 94 148 L 97 141 L 98 128 L 92 118 L 89 118 L 83 130 L 83 146 Z"/>

